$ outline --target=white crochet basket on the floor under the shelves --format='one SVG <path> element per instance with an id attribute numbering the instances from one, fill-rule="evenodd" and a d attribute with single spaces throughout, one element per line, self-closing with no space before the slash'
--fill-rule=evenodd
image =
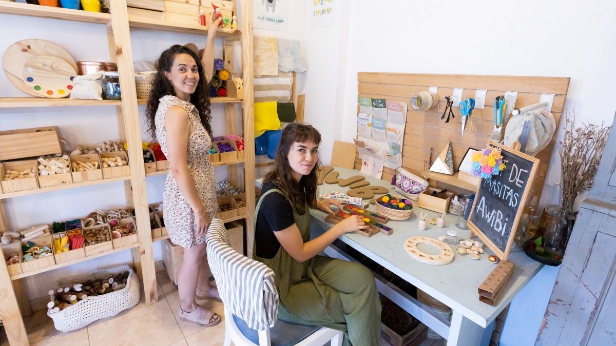
<path id="1" fill-rule="evenodd" d="M 109 278 L 124 272 L 129 272 L 125 288 L 101 296 L 87 297 L 60 312 L 50 313 L 50 310 L 48 310 L 47 316 L 54 320 L 55 329 L 61 332 L 74 331 L 101 318 L 115 316 L 139 303 L 139 279 L 128 265 L 99 269 L 90 275 L 76 276 L 60 281 L 59 286 L 67 286 L 73 283 L 83 283 L 87 280 Z"/>

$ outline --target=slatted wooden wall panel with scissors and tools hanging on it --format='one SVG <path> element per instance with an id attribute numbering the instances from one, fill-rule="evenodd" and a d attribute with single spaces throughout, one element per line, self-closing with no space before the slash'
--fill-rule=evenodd
<path id="1" fill-rule="evenodd" d="M 407 125 L 405 127 L 402 147 L 402 167 L 421 175 L 431 166 L 440 151 L 452 142 L 453 163 L 457 168 L 464 153 L 469 147 L 485 148 L 490 139 L 494 124 L 494 99 L 505 95 L 506 91 L 517 92 L 516 108 L 539 102 L 541 94 L 554 94 L 552 114 L 556 124 L 560 124 L 561 114 L 569 88 L 569 78 L 563 77 L 526 77 L 526 76 L 482 76 L 471 74 L 415 74 L 415 73 L 376 73 L 359 72 L 357 74 L 358 97 L 387 99 L 410 103 L 411 97 L 428 87 L 438 87 L 439 105 L 428 111 L 416 111 L 408 107 Z M 445 96 L 453 93 L 453 88 L 463 88 L 463 99 L 474 98 L 477 89 L 487 90 L 485 108 L 472 111 L 472 129 L 467 124 L 464 135 L 461 135 L 462 117 L 455 107 L 454 119 L 445 123 L 440 119 L 445 108 Z M 358 107 L 359 113 L 359 107 Z M 503 134 L 505 130 L 503 129 Z M 541 160 L 537 177 L 533 183 L 531 194 L 541 195 L 543 183 L 548 172 L 549 159 L 554 150 L 554 139 L 543 151 L 535 157 Z M 359 157 L 355 159 L 355 169 L 360 169 Z M 381 179 L 391 181 L 394 170 L 384 168 Z M 440 182 L 431 181 L 434 187 L 448 188 L 459 193 L 460 188 Z"/>

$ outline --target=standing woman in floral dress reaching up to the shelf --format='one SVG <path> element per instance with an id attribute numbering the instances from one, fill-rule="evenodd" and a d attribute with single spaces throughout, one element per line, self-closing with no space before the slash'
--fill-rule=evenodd
<path id="1" fill-rule="evenodd" d="M 208 28 L 220 19 L 209 18 Z M 208 30 L 203 58 L 185 46 L 174 45 L 158 58 L 152 94 L 145 110 L 150 132 L 169 159 L 164 183 L 163 214 L 171 242 L 184 247 L 177 273 L 179 316 L 211 327 L 220 323 L 216 313 L 200 307 L 196 299 L 220 301 L 209 284 L 205 233 L 216 215 L 214 167 L 207 152 L 212 146 L 208 83 L 214 70 L 216 30 Z"/>

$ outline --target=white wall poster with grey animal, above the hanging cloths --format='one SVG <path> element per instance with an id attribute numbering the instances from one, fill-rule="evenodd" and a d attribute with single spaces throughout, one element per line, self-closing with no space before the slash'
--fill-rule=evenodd
<path id="1" fill-rule="evenodd" d="M 253 26 L 256 29 L 289 31 L 290 0 L 253 0 Z"/>

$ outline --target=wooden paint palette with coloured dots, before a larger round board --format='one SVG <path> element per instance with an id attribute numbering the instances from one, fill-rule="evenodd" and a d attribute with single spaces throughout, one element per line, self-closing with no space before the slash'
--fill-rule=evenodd
<path id="1" fill-rule="evenodd" d="M 77 72 L 62 58 L 39 55 L 23 66 L 23 82 L 34 94 L 50 99 L 68 97 Z"/>

